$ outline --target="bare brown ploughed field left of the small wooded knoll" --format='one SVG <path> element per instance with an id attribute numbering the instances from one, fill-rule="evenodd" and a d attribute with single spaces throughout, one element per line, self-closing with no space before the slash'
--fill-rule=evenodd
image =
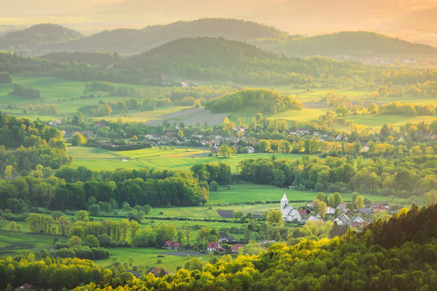
<path id="1" fill-rule="evenodd" d="M 183 122 L 185 125 L 196 125 L 200 123 L 200 125 L 205 124 L 208 125 L 218 125 L 223 122 L 226 116 L 229 114 L 212 114 L 211 111 L 203 109 L 203 108 L 190 108 L 185 109 L 183 111 L 178 111 L 171 114 L 165 114 L 163 116 L 158 116 L 158 120 L 149 120 L 146 121 L 146 124 L 149 126 L 159 126 L 163 123 L 164 120 L 176 121 L 177 123 Z"/>

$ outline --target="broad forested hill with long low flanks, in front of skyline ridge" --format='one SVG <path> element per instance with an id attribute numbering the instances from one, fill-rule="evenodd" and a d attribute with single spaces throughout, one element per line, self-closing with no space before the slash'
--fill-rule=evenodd
<path id="1" fill-rule="evenodd" d="M 0 53 L 0 71 L 50 75 L 77 81 L 100 80 L 134 84 L 172 84 L 180 80 L 219 80 L 240 84 L 311 86 L 320 75 L 365 77 L 377 67 L 339 62 L 328 57 L 283 57 L 254 45 L 224 38 L 182 38 L 140 55 L 58 53 L 45 58 Z M 86 61 L 95 58 L 96 66 Z M 56 59 L 56 60 L 55 60 Z M 107 60 L 114 60 L 109 65 Z M 69 61 L 68 61 L 69 60 Z M 84 62 L 77 62 L 78 60 Z M 119 60 L 119 62 L 117 62 Z M 95 63 L 96 63 L 95 62 Z M 107 65 L 104 65 L 104 63 Z M 314 78 L 313 78 L 314 77 Z"/>

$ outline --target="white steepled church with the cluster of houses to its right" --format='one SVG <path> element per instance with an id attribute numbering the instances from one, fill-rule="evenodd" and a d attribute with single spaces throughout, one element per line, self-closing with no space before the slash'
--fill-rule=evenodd
<path id="1" fill-rule="evenodd" d="M 311 214 L 311 209 L 313 209 L 313 202 L 306 205 L 307 209 L 294 209 L 290 204 L 288 204 L 288 199 L 286 194 L 284 193 L 284 197 L 281 199 L 281 212 L 283 215 L 284 221 L 297 221 L 301 222 L 303 218 L 308 217 L 308 214 Z M 368 208 L 360 208 L 357 213 L 352 212 L 350 209 L 346 208 L 346 204 L 340 203 L 338 204 L 337 209 L 340 209 L 340 214 L 338 218 L 334 219 L 333 222 L 336 222 L 338 225 L 347 225 L 350 227 L 360 228 L 365 224 L 369 224 L 372 222 L 371 219 L 363 219 L 361 216 L 357 214 L 373 214 L 378 209 L 380 211 L 388 211 L 389 204 L 387 203 L 376 203 L 372 204 L 371 207 Z M 335 208 L 327 207 L 326 214 L 335 214 Z M 306 220 L 307 221 L 316 221 L 318 219 L 322 219 L 320 215 L 311 215 Z"/>

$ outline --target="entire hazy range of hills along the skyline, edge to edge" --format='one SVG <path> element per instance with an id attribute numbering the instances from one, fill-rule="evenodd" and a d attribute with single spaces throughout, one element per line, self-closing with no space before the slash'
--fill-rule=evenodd
<path id="1" fill-rule="evenodd" d="M 430 45 L 409 43 L 372 32 L 342 31 L 306 37 L 289 35 L 252 21 L 230 18 L 201 18 L 143 29 L 119 28 L 87 37 L 63 26 L 40 24 L 0 37 L 0 50 L 11 50 L 13 47 L 14 52 L 25 56 L 59 52 L 136 55 L 172 40 L 195 37 L 239 40 L 286 56 L 437 54 L 437 48 Z"/>

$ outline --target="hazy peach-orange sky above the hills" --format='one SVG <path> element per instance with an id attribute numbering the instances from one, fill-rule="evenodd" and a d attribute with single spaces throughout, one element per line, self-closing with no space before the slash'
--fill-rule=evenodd
<path id="1" fill-rule="evenodd" d="M 437 0 L 0 0 L 0 26 L 58 23 L 85 34 L 222 17 L 291 34 L 374 31 L 437 46 Z"/>

